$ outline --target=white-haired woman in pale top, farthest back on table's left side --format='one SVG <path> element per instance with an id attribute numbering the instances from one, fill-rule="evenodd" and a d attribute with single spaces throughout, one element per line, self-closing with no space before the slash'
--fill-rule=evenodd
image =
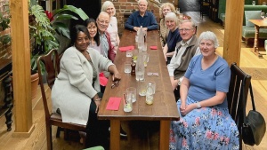
<path id="1" fill-rule="evenodd" d="M 116 9 L 114 7 L 114 4 L 110 1 L 104 2 L 101 7 L 101 12 L 109 13 L 110 21 L 107 32 L 109 33 L 110 41 L 114 46 L 114 50 L 116 52 L 117 46 L 119 45 L 119 36 L 117 34 L 117 18 L 115 17 Z"/>

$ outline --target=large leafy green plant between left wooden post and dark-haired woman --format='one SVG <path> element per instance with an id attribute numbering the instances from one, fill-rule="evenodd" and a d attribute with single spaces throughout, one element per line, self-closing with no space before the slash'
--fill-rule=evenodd
<path id="1" fill-rule="evenodd" d="M 35 40 L 30 56 L 33 74 L 37 72 L 36 59 L 52 49 L 59 48 L 60 40 L 56 34 L 70 38 L 69 27 L 61 23 L 61 20 L 78 20 L 75 15 L 79 16 L 82 20 L 86 20 L 88 16 L 83 10 L 77 9 L 72 5 L 65 5 L 63 8 L 57 10 L 53 16 L 50 16 L 50 18 L 44 12 L 43 7 L 38 4 L 31 5 L 29 8 L 29 15 L 34 18 L 34 25 L 29 25 L 30 36 Z M 43 66 L 42 74 L 44 74 L 44 64 L 41 64 L 41 66 Z M 38 77 L 38 75 L 36 76 Z M 36 79 L 36 87 L 37 83 L 38 79 Z"/>

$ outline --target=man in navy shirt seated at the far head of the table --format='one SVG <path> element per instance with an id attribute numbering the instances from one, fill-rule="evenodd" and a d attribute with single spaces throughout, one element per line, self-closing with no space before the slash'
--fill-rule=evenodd
<path id="1" fill-rule="evenodd" d="M 125 29 L 138 31 L 142 26 L 143 31 L 158 29 L 158 23 L 152 12 L 147 12 L 148 1 L 138 1 L 139 11 L 133 12 L 125 22 Z"/>

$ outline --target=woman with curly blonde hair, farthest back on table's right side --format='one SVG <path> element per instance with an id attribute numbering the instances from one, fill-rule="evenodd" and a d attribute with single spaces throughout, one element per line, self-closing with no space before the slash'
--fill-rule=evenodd
<path id="1" fill-rule="evenodd" d="M 168 35 L 168 30 L 165 24 L 165 16 L 168 12 L 175 12 L 174 4 L 165 3 L 162 4 L 159 8 L 160 22 L 159 22 L 159 36 L 161 46 L 164 47 L 166 44 L 166 37 Z"/>

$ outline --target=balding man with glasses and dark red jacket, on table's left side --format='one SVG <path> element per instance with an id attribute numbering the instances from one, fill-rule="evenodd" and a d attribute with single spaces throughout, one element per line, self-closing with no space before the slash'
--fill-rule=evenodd
<path id="1" fill-rule="evenodd" d="M 101 41 L 101 54 L 113 62 L 116 52 L 111 44 L 109 33 L 106 31 L 109 27 L 109 20 L 109 13 L 101 12 L 96 20 L 96 24 Z"/>

